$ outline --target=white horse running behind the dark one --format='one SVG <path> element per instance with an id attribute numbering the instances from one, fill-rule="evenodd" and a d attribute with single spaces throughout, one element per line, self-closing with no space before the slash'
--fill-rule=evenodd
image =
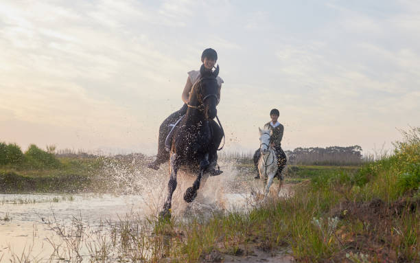
<path id="1" fill-rule="evenodd" d="M 265 196 L 267 196 L 272 181 L 275 177 L 277 169 L 277 156 L 275 149 L 270 146 L 270 137 L 272 135 L 272 130 L 261 130 L 259 129 L 259 150 L 261 156 L 258 160 L 258 172 L 259 178 L 267 180 L 266 189 L 264 190 Z"/>

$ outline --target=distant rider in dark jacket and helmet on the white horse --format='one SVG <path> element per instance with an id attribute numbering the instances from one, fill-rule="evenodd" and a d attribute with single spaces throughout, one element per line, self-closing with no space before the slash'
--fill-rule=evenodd
<path id="1" fill-rule="evenodd" d="M 283 170 L 283 168 L 285 168 L 287 159 L 286 159 L 285 153 L 283 152 L 283 149 L 281 149 L 281 139 L 283 139 L 284 126 L 281 123 L 277 122 L 279 115 L 280 115 L 279 110 L 277 110 L 277 108 L 273 108 L 270 111 L 271 122 L 267 122 L 264 125 L 264 130 L 272 130 L 272 135 L 270 137 L 270 146 L 275 149 L 276 156 L 277 156 L 277 165 L 279 165 L 279 169 L 277 170 L 275 176 L 279 176 L 279 179 L 281 179 L 280 178 L 281 171 Z M 253 157 L 257 172 L 258 172 L 258 160 L 260 156 L 261 156 L 261 152 L 259 152 L 259 149 L 258 149 L 255 151 L 255 154 Z M 255 179 L 259 179 L 259 173 L 257 174 L 257 176 L 255 176 Z"/>

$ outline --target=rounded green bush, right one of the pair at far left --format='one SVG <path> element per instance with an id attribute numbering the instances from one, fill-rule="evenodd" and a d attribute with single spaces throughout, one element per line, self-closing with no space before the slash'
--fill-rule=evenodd
<path id="1" fill-rule="evenodd" d="M 27 163 L 32 166 L 32 168 L 58 168 L 61 165 L 60 161 L 58 161 L 54 155 L 45 152 L 45 150 L 41 150 L 34 144 L 31 144 L 27 149 L 25 157 Z"/>

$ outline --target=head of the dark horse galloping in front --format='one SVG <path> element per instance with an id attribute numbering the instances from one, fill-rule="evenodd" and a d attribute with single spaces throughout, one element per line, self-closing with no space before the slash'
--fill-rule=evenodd
<path id="1" fill-rule="evenodd" d="M 206 71 L 204 65 L 202 65 L 200 69 L 201 78 L 198 80 L 196 87 L 194 87 L 196 100 L 202 108 L 202 111 L 204 111 L 206 119 L 214 119 L 218 114 L 218 110 L 216 109 L 219 102 L 218 73 L 219 66 L 215 71 Z"/>

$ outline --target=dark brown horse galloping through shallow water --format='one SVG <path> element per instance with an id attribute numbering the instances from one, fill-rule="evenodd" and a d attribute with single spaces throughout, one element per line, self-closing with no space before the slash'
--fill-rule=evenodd
<path id="1" fill-rule="evenodd" d="M 161 216 L 170 216 L 172 194 L 176 189 L 176 173 L 185 165 L 191 170 L 198 170 L 198 176 L 193 185 L 184 194 L 187 203 L 194 201 L 203 173 L 217 175 L 215 170 L 217 150 L 222 141 L 223 130 L 213 120 L 217 115 L 218 82 L 215 71 L 200 69 L 201 77 L 192 87 L 189 95 L 188 110 L 185 117 L 174 129 L 170 152 L 170 181 L 167 185 L 167 200 L 163 205 Z"/>

